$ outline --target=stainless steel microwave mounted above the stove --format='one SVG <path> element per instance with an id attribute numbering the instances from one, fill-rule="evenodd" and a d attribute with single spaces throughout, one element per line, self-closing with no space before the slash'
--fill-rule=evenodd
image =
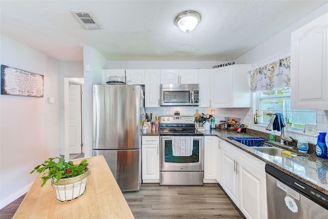
<path id="1" fill-rule="evenodd" d="M 160 85 L 160 106 L 199 106 L 199 84 Z"/>

